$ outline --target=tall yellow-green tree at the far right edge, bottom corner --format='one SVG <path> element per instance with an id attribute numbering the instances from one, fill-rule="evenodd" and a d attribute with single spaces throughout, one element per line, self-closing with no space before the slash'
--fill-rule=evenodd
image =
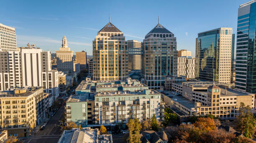
<path id="1" fill-rule="evenodd" d="M 255 133 L 256 121 L 253 118 L 253 113 L 251 113 L 251 107 L 245 106 L 245 104 L 241 102 L 238 113 L 236 128 L 240 133 L 244 133 L 244 136 L 247 138 L 252 138 Z"/>

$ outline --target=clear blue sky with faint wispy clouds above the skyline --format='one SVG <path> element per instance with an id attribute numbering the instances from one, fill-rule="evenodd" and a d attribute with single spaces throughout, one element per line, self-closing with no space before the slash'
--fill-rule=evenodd
<path id="1" fill-rule="evenodd" d="M 1 2 L 0 23 L 15 27 L 17 47 L 36 44 L 55 52 L 65 35 L 74 52 L 92 55 L 92 40 L 111 23 L 125 39 L 143 41 L 158 23 L 177 37 L 177 50 L 195 56 L 197 33 L 218 27 L 237 28 L 239 5 L 248 0 L 6 0 Z"/>

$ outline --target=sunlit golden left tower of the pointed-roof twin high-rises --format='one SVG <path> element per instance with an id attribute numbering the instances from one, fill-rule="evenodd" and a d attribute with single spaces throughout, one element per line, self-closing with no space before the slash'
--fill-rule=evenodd
<path id="1" fill-rule="evenodd" d="M 128 77 L 128 50 L 123 32 L 108 22 L 92 45 L 93 80 L 125 80 Z"/>

